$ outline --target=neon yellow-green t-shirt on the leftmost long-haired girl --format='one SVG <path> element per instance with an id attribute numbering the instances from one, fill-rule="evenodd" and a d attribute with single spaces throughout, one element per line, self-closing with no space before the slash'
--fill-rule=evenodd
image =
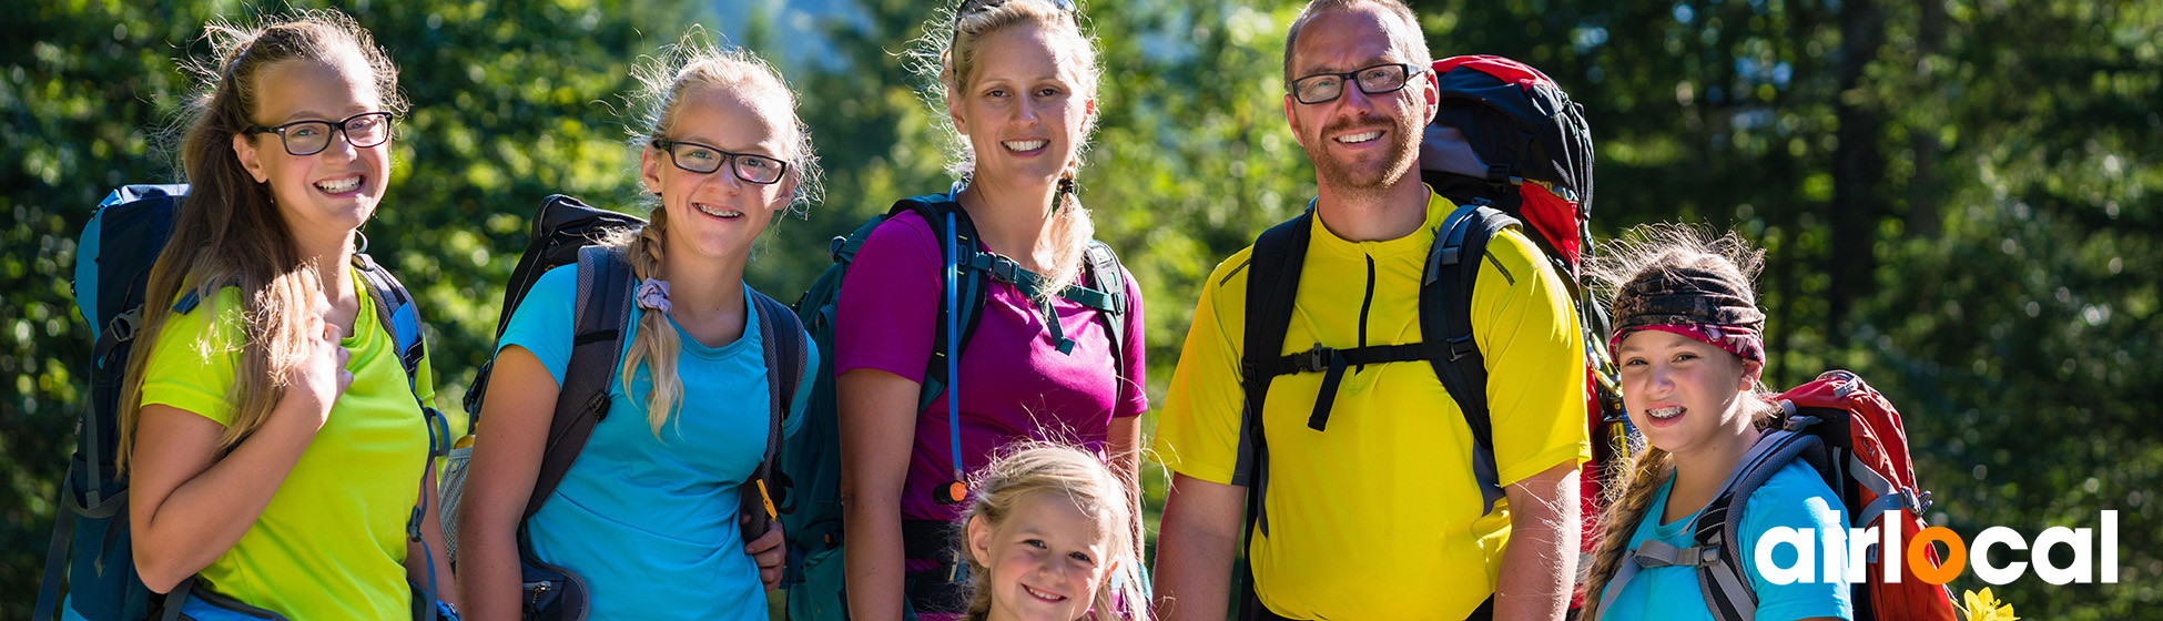
<path id="1" fill-rule="evenodd" d="M 428 463 L 428 431 L 366 292 L 353 338 L 344 340 L 353 351 L 346 364 L 353 385 L 255 526 L 197 573 L 199 586 L 296 621 L 413 615 L 404 580 L 407 515 Z M 143 405 L 162 402 L 229 424 L 227 389 L 238 361 L 240 290 L 223 288 L 195 312 L 167 318 L 149 353 Z M 430 376 L 422 357 L 417 389 L 433 400 Z"/>

